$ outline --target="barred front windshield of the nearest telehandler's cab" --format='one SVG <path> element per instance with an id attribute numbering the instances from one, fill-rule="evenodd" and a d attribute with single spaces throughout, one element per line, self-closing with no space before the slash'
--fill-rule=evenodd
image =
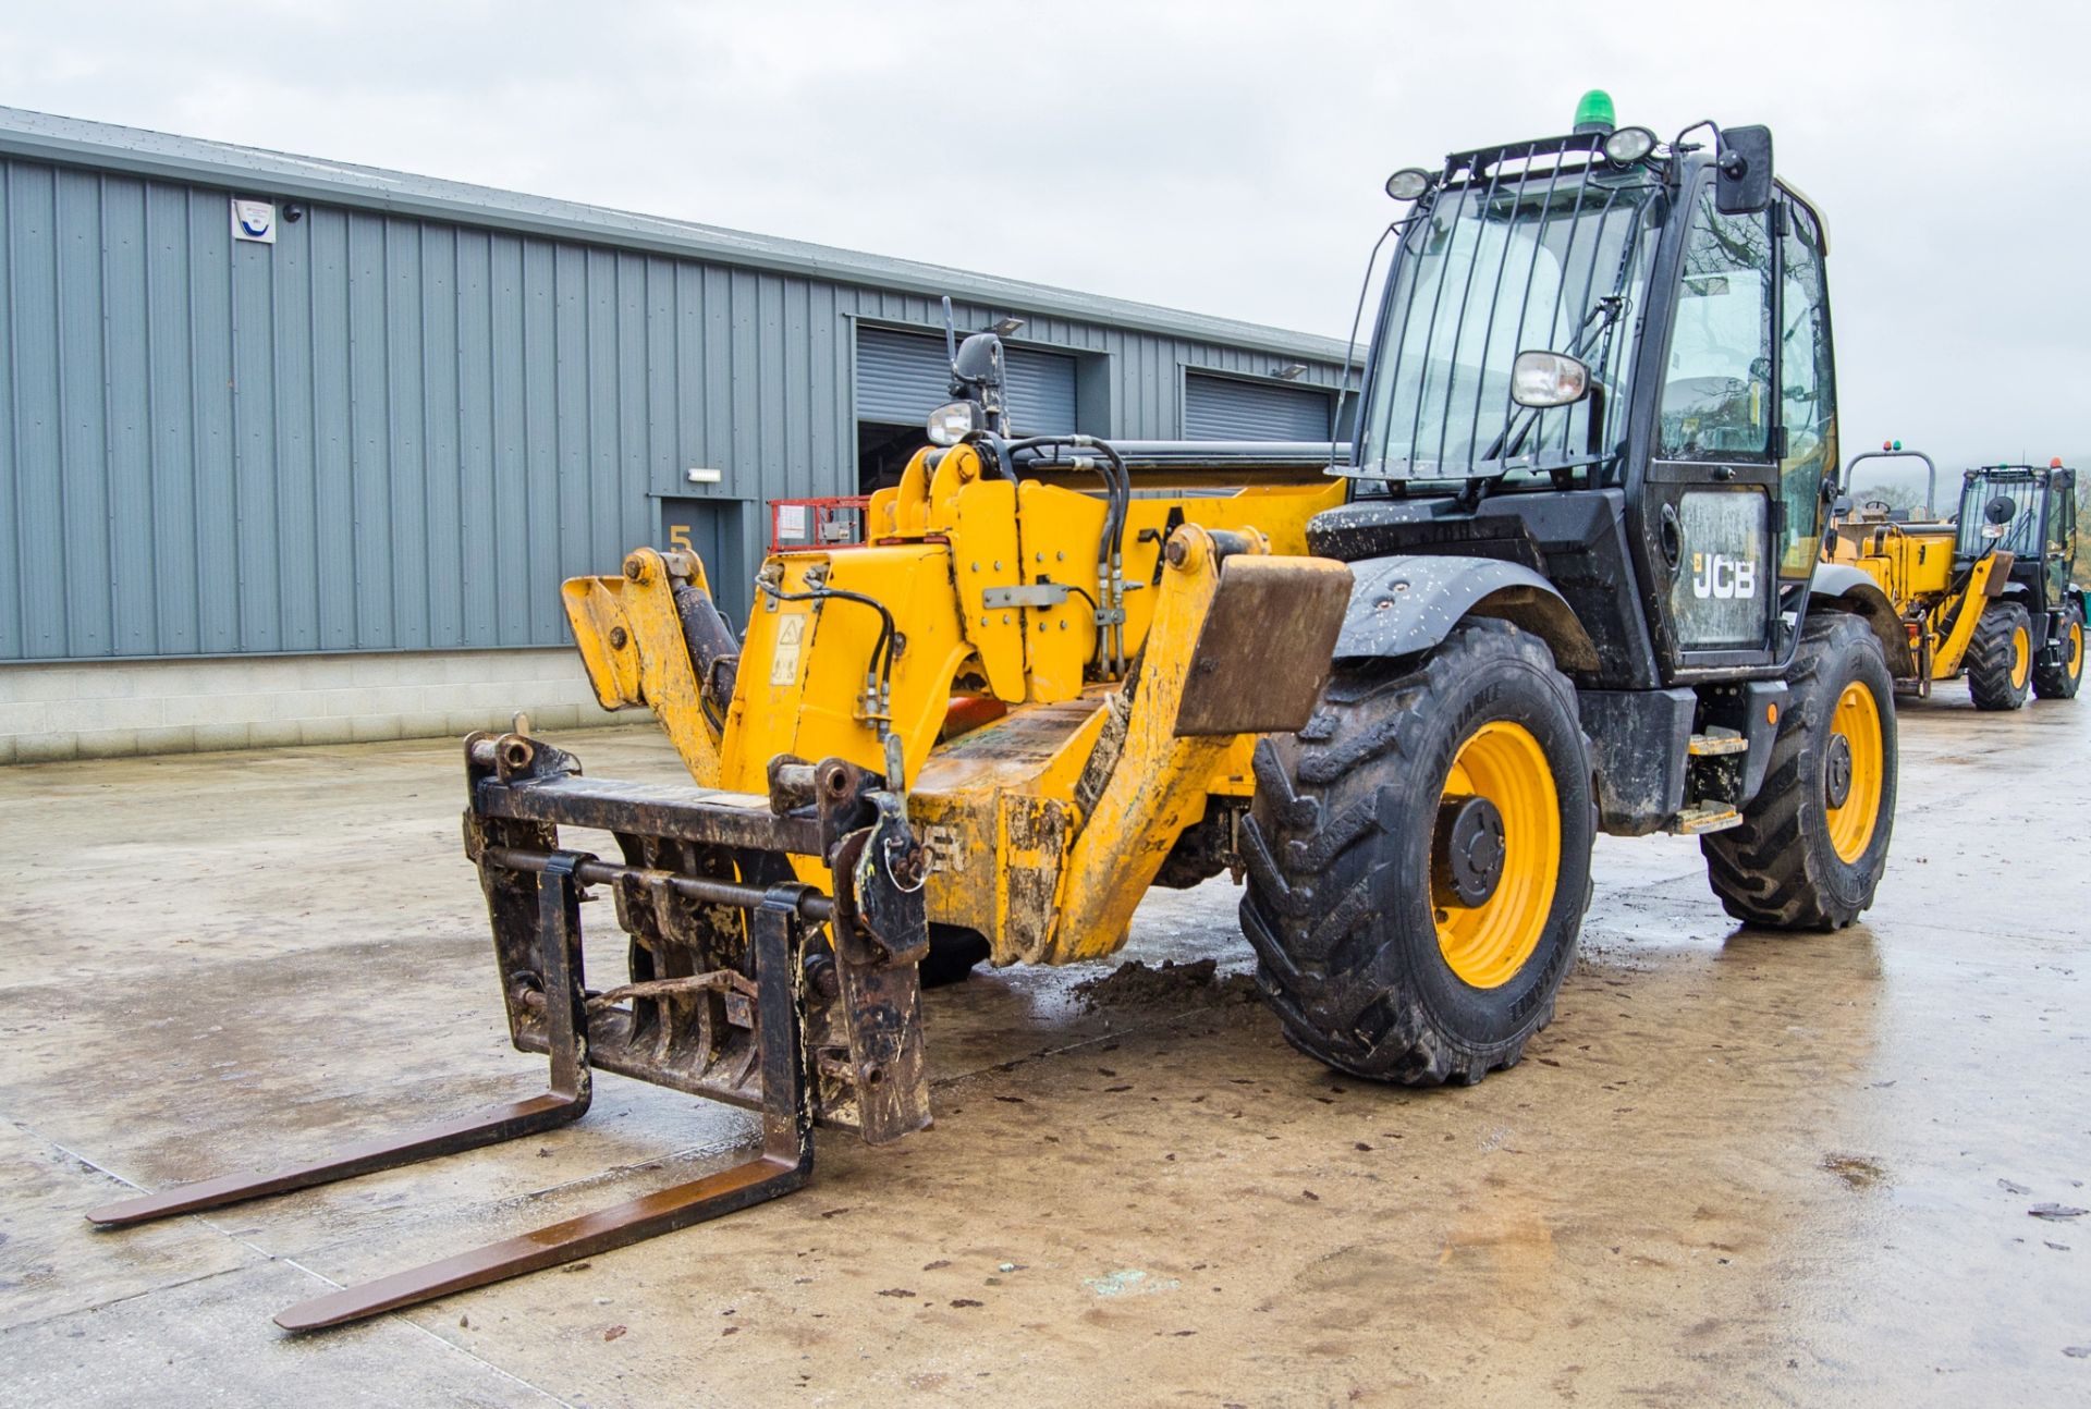
<path id="1" fill-rule="evenodd" d="M 1506 171 L 1514 161 L 1411 215 L 1380 309 L 1363 435 L 1345 472 L 1556 470 L 1610 456 L 1623 435 L 1656 180 L 1602 165 L 1535 171 L 1529 155 L 1526 169 Z M 1516 406 L 1510 366 L 1533 349 L 1587 362 L 1593 395 L 1547 412 Z M 1593 403 L 1604 416 L 1595 452 Z"/>

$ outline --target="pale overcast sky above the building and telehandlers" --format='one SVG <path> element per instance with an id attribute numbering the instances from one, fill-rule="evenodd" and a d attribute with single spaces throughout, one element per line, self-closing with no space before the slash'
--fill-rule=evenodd
<path id="1" fill-rule="evenodd" d="M 1342 337 L 1443 153 L 1771 125 L 1846 454 L 2091 460 L 2078 4 L 10 4 L 0 100 Z"/>

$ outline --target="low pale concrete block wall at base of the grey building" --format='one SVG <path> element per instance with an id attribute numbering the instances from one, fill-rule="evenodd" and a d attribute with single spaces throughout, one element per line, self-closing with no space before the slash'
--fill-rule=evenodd
<path id="1" fill-rule="evenodd" d="M 571 648 L 0 665 L 0 763 L 640 723 Z"/>

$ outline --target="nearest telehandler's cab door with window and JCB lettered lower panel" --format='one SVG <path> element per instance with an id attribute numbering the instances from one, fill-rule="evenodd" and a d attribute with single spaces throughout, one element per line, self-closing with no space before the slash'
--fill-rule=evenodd
<path id="1" fill-rule="evenodd" d="M 1671 679 L 1769 665 L 1779 617 L 1775 220 L 1721 213 L 1713 180 L 1685 220 L 1641 504 Z"/>

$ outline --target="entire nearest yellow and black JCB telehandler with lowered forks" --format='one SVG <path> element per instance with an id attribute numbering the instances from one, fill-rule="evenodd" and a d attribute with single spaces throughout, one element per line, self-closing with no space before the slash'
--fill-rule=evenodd
<path id="1" fill-rule="evenodd" d="M 1568 136 L 1388 194 L 1355 443 L 1022 435 L 981 332 L 949 345 L 956 399 L 870 541 L 772 556 L 738 638 L 692 554 L 569 581 L 598 698 L 652 709 L 696 786 L 466 740 L 508 1026 L 552 1089 L 92 1217 L 539 1131 L 585 1110 L 592 1068 L 759 1110 L 761 1154 L 278 1321 L 717 1217 L 799 1187 L 815 1121 L 874 1144 L 928 1123 L 924 964 L 1098 960 L 1152 884 L 1221 870 L 1290 1041 L 1409 1085 L 1478 1081 L 1549 1020 L 1598 828 L 1700 836 L 1746 922 L 1857 918 L 1907 644 L 1813 585 L 1828 238 L 1769 132 L 1660 142 L 1593 94 Z M 585 888 L 629 932 L 608 991 L 581 974 Z"/>

